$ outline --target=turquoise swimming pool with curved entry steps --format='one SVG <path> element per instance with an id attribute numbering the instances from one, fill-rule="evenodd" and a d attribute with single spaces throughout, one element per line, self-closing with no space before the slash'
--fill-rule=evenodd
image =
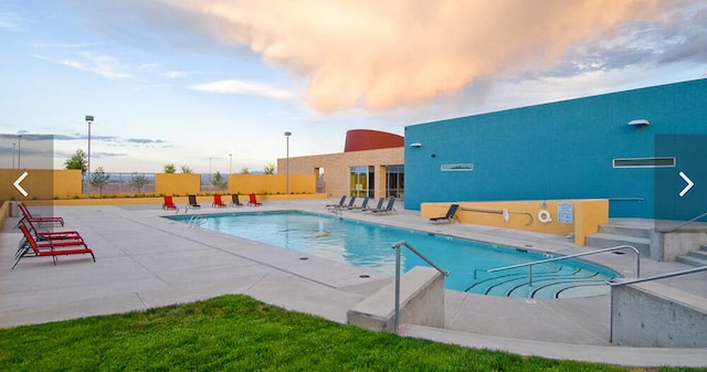
<path id="1" fill-rule="evenodd" d="M 193 216 L 169 216 L 187 223 Z M 326 257 L 393 275 L 393 243 L 407 241 L 440 267 L 452 274 L 447 289 L 493 296 L 567 298 L 608 293 L 604 280 L 619 275 L 588 262 L 571 259 L 528 269 L 488 274 L 490 268 L 551 257 L 548 254 L 456 238 L 426 232 L 391 227 L 300 211 L 245 212 L 204 215 L 200 227 L 257 241 L 289 251 Z M 403 270 L 429 266 L 403 249 Z"/>

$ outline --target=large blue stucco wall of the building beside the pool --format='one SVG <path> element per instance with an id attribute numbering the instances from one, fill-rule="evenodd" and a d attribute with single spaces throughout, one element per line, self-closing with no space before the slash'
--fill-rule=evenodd
<path id="1" fill-rule="evenodd" d="M 651 125 L 627 125 L 643 118 Z M 707 79 L 413 125 L 405 128 L 405 208 L 640 199 L 611 201 L 611 216 L 687 220 L 707 212 L 707 137 L 698 135 L 707 135 Z M 422 146 L 410 147 L 414 142 Z M 676 167 L 668 169 L 619 169 L 612 162 L 676 155 Z M 441 171 L 453 163 L 473 163 L 474 170 Z M 696 184 L 685 198 L 677 195 L 685 185 L 679 171 Z M 656 190 L 656 178 L 671 181 L 658 182 Z"/>

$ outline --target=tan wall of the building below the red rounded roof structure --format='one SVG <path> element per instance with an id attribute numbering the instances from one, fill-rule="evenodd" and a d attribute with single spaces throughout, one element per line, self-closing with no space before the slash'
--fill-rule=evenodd
<path id="1" fill-rule="evenodd" d="M 386 196 L 386 166 L 404 163 L 404 148 L 351 151 L 289 158 L 289 173 L 314 174 L 324 168 L 325 193 L 327 196 L 350 194 L 349 169 L 351 167 L 373 166 L 376 177 L 376 198 Z M 287 172 L 287 159 L 277 159 L 277 173 Z"/>

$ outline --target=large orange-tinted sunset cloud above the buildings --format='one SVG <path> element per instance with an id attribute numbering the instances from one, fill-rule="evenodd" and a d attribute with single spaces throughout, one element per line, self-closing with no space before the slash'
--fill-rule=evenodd
<path id="1" fill-rule="evenodd" d="M 585 40 L 619 38 L 622 24 L 657 22 L 664 7 L 657 0 L 162 1 L 199 14 L 200 31 L 212 38 L 247 45 L 306 78 L 306 99 L 325 113 L 414 106 L 483 77 L 542 71 Z M 202 88 L 229 91 L 229 84 Z"/>

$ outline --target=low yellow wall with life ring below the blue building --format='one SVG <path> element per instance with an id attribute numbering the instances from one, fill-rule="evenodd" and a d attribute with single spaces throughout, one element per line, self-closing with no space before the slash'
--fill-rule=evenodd
<path id="1" fill-rule="evenodd" d="M 549 223 L 541 223 L 538 219 L 544 202 L 551 215 L 552 221 Z M 573 205 L 573 223 L 558 221 L 559 203 Z M 573 233 L 577 245 L 584 245 L 588 235 L 597 233 L 599 225 L 609 223 L 609 201 L 605 199 L 422 203 L 420 215 L 423 219 L 444 215 L 451 204 L 460 204 L 456 216 L 461 223 L 557 235 Z M 504 219 L 504 209 L 508 211 L 508 221 Z"/>

